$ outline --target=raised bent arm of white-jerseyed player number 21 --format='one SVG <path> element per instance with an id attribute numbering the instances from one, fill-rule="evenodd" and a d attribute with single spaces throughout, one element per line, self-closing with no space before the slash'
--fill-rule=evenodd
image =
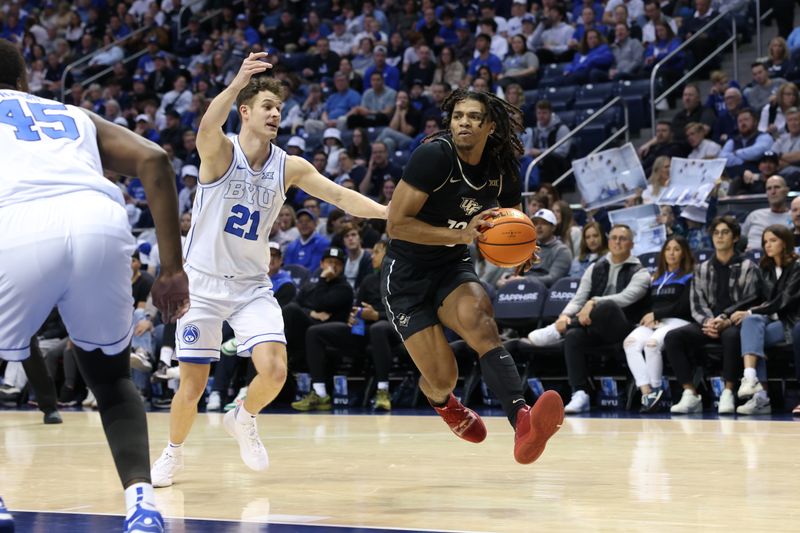
<path id="1" fill-rule="evenodd" d="M 215 96 L 208 105 L 197 130 L 197 152 L 200 154 L 200 159 L 203 160 L 203 164 L 200 166 L 200 183 L 215 182 L 230 166 L 233 158 L 233 145 L 225 136 L 222 128 L 228 121 L 228 115 L 236 97 L 250 82 L 250 78 L 272 68 L 271 64 L 261 61 L 266 56 L 265 52 L 259 52 L 245 58 L 231 84 Z"/>

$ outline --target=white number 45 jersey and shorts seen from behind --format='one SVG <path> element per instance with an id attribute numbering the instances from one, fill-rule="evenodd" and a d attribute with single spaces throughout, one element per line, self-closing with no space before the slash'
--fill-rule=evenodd
<path id="1" fill-rule="evenodd" d="M 22 360 L 58 306 L 84 350 L 121 352 L 133 331 L 131 234 L 86 113 L 0 91 L 0 357 Z"/>

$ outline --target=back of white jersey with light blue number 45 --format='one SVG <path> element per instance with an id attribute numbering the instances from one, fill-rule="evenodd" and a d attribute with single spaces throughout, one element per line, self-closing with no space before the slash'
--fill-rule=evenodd
<path id="1" fill-rule="evenodd" d="M 0 91 L 0 208 L 87 190 L 125 205 L 103 176 L 92 119 L 75 106 Z"/>

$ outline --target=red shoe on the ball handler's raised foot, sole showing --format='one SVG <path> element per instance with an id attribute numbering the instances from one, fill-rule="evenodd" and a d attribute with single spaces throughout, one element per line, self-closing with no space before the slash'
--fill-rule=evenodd
<path id="1" fill-rule="evenodd" d="M 545 391 L 533 407 L 520 409 L 514 434 L 514 459 L 524 465 L 538 459 L 562 422 L 564 402 L 556 391 Z"/>

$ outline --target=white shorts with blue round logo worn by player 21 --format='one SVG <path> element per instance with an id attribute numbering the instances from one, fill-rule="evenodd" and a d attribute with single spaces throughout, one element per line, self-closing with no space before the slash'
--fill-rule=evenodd
<path id="1" fill-rule="evenodd" d="M 219 359 L 222 322 L 236 334 L 237 352 L 250 355 L 262 342 L 286 344 L 283 313 L 268 283 L 230 280 L 186 266 L 189 311 L 178 320 L 175 352 L 179 361 L 210 363 Z"/>

